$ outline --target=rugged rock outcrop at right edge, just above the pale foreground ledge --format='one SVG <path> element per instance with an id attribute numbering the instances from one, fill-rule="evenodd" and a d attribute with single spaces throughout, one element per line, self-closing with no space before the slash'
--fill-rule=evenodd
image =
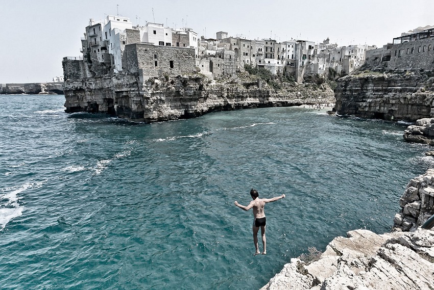
<path id="1" fill-rule="evenodd" d="M 394 227 L 403 231 L 416 230 L 434 214 L 434 169 L 410 180 L 399 205 Z"/>

